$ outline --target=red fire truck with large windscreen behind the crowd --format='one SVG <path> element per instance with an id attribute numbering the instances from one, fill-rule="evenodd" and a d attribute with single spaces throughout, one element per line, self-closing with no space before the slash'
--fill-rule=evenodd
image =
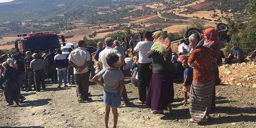
<path id="1" fill-rule="evenodd" d="M 26 52 L 26 51 L 35 51 L 35 50 L 49 50 L 61 48 L 59 43 L 59 36 L 61 36 L 63 45 L 65 45 L 65 38 L 62 35 L 57 35 L 48 32 L 40 32 L 40 33 L 27 33 L 18 35 L 20 37 L 20 41 L 15 42 L 15 48 L 17 52 Z"/>

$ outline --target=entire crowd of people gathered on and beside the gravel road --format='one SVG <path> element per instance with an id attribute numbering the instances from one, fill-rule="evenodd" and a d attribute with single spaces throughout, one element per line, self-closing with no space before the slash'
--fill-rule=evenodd
<path id="1" fill-rule="evenodd" d="M 189 104 L 190 122 L 207 121 L 211 109 L 215 108 L 215 86 L 220 83 L 218 63 L 221 61 L 219 32 L 208 28 L 203 33 L 189 37 L 189 46 L 180 45 L 180 53 L 173 54 L 167 33 L 146 31 L 144 41 L 134 43 L 131 38 L 113 40 L 108 37 L 98 42 L 94 59 L 86 49 L 86 42 L 78 41 L 78 48 L 70 48 L 68 54 L 61 49 L 27 51 L 13 56 L 0 56 L 0 85 L 4 90 L 7 106 L 13 101 L 18 105 L 26 98 L 20 91 L 46 90 L 45 79 L 58 83 L 58 88 L 76 84 L 78 102 L 90 101 L 89 79 L 103 87 L 105 104 L 105 127 L 108 128 L 112 108 L 114 128 L 117 127 L 117 107 L 121 99 L 126 106 L 132 104 L 127 96 L 124 79 L 130 76 L 138 87 L 137 104 L 146 104 L 152 114 L 171 111 L 174 101 L 174 81 L 182 81 L 184 100 Z M 130 45 L 129 45 L 130 44 Z M 128 46 L 130 49 L 128 50 Z M 256 52 L 255 52 L 256 53 Z M 252 58 L 255 58 L 255 53 Z M 132 55 L 132 57 L 131 57 Z M 243 50 L 232 44 L 224 63 L 241 63 L 245 59 Z M 222 62 L 222 61 L 221 61 Z"/>

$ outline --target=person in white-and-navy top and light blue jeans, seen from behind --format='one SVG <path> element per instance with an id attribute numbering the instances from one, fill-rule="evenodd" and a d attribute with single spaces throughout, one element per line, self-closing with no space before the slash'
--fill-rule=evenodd
<path id="1" fill-rule="evenodd" d="M 54 56 L 54 65 L 56 65 L 56 70 L 58 71 L 58 81 L 59 86 L 58 88 L 61 88 L 62 85 L 62 78 L 64 80 L 64 87 L 67 86 L 67 56 L 65 54 L 62 54 L 61 49 L 57 49 L 57 54 Z"/>

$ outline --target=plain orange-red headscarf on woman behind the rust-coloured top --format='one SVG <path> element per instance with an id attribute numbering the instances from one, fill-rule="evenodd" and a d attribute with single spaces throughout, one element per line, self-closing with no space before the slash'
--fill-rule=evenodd
<path id="1" fill-rule="evenodd" d="M 208 28 L 203 31 L 204 36 L 206 37 L 208 44 L 217 44 L 219 49 L 221 49 L 221 44 L 219 42 L 219 31 L 215 28 Z"/>

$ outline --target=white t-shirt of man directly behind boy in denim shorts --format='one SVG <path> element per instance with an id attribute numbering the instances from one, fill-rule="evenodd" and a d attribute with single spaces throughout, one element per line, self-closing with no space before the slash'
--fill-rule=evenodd
<path id="1" fill-rule="evenodd" d="M 120 54 L 120 52 L 118 52 L 118 50 L 115 50 L 111 47 L 106 47 L 104 50 L 102 50 L 99 54 L 99 62 L 102 63 L 103 65 L 103 69 L 108 68 L 108 63 L 106 62 L 106 56 L 110 53 L 114 53 L 117 54 L 117 56 L 121 57 L 122 55 Z"/>

